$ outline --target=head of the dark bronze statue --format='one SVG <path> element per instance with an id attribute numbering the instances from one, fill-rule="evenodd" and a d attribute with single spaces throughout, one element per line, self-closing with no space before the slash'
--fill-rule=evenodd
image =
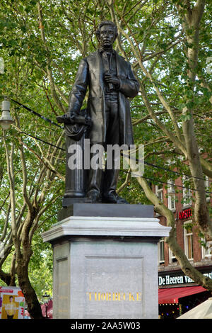
<path id="1" fill-rule="evenodd" d="M 118 35 L 117 26 L 112 21 L 102 21 L 96 35 L 102 47 L 110 48 Z"/>

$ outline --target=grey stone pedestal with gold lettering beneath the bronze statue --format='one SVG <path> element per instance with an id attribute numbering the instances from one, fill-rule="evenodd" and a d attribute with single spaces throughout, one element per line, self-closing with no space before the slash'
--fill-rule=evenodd
<path id="1" fill-rule="evenodd" d="M 54 251 L 54 319 L 157 319 L 158 240 L 169 232 L 152 206 L 78 204 L 42 235 Z"/>

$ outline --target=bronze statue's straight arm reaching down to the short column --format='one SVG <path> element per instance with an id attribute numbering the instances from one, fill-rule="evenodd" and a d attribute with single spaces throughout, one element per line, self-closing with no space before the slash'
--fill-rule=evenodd
<path id="1" fill-rule="evenodd" d="M 78 72 L 76 74 L 76 80 L 71 89 L 69 95 L 69 114 L 76 114 L 80 111 L 83 104 L 83 99 L 86 96 L 86 90 L 88 87 L 88 62 L 81 60 Z"/>

